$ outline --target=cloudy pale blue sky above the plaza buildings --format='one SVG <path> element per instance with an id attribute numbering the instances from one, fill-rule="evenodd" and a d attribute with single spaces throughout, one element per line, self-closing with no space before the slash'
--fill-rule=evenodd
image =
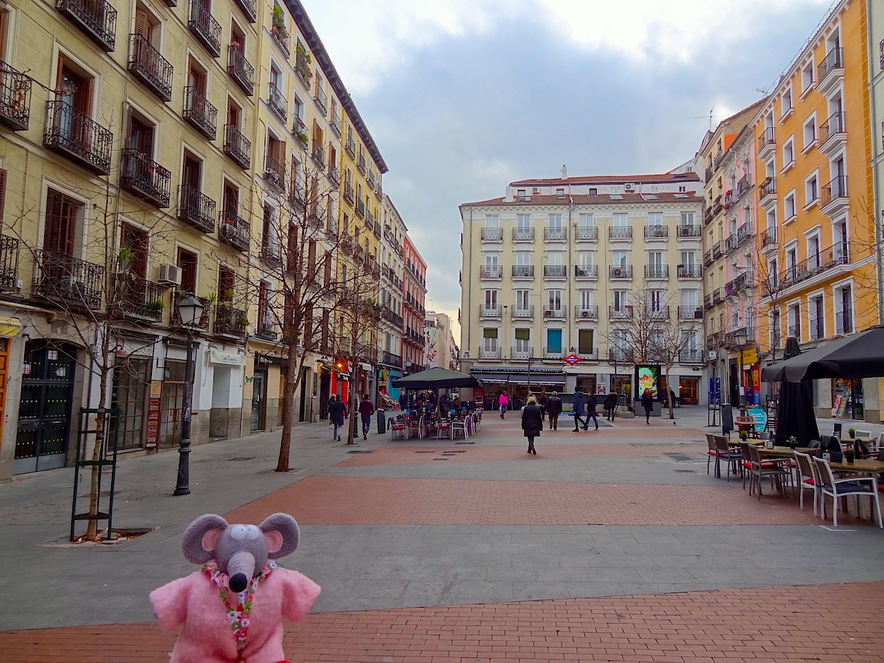
<path id="1" fill-rule="evenodd" d="M 302 0 L 456 323 L 461 202 L 668 171 L 760 98 L 831 0 Z"/>

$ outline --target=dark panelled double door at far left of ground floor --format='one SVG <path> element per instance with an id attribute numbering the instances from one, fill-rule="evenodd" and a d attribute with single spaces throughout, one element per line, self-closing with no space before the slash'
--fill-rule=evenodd
<path id="1" fill-rule="evenodd" d="M 13 474 L 65 467 L 75 352 L 42 339 L 27 341 Z"/>

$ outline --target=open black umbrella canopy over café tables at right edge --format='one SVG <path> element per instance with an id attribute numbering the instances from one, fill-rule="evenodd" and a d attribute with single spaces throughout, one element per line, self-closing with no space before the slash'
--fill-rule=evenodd
<path id="1" fill-rule="evenodd" d="M 765 382 L 801 382 L 824 377 L 884 377 L 884 326 L 831 340 L 761 370 Z"/>

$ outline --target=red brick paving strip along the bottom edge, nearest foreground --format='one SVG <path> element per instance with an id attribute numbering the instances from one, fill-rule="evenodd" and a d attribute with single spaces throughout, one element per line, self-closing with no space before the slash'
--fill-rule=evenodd
<path id="1" fill-rule="evenodd" d="M 884 583 L 308 615 L 302 663 L 884 661 Z M 0 663 L 167 661 L 153 624 L 0 633 Z"/>

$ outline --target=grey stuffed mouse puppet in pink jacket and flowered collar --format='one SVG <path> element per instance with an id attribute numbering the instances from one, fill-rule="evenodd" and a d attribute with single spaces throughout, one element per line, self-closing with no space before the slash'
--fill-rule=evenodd
<path id="1" fill-rule="evenodd" d="M 150 592 L 160 624 L 184 626 L 170 663 L 285 663 L 282 618 L 301 621 L 319 596 L 319 585 L 273 561 L 294 552 L 299 537 L 288 514 L 260 525 L 215 514 L 191 522 L 181 550 L 202 569 Z"/>

